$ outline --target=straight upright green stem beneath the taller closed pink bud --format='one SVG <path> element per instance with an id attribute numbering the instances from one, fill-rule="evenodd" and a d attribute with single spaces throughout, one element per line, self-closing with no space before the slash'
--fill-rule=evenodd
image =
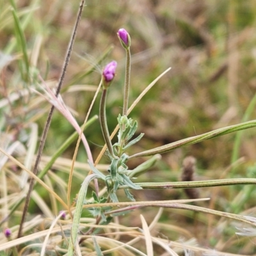
<path id="1" fill-rule="evenodd" d="M 123 116 L 127 116 L 128 103 L 129 103 L 129 88 L 130 88 L 130 79 L 131 79 L 131 51 L 130 51 L 130 47 L 128 49 L 125 49 L 125 52 L 126 52 L 126 65 L 125 65 Z"/>

